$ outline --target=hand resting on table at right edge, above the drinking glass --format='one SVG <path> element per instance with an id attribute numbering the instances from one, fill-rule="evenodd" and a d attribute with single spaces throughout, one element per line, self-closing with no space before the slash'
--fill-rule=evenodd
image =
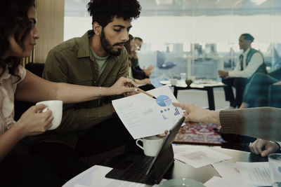
<path id="1" fill-rule="evenodd" d="M 265 139 L 256 139 L 253 143 L 249 144 L 251 153 L 255 153 L 261 156 L 267 156 L 270 153 L 278 151 L 279 146 L 274 141 L 268 141 Z M 264 150 L 263 150 L 264 148 Z"/>

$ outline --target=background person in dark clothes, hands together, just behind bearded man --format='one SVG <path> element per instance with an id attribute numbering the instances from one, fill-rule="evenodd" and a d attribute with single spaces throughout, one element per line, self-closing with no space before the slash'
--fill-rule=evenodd
<path id="1" fill-rule="evenodd" d="M 143 67 L 141 69 L 138 64 L 138 55 L 137 53 L 141 50 L 141 46 L 143 45 L 143 39 L 139 37 L 134 38 L 134 45 L 131 46 L 131 69 L 133 73 L 133 78 L 138 80 L 143 80 L 145 78 L 149 78 L 153 73 L 154 67 L 150 65 L 148 68 Z"/>

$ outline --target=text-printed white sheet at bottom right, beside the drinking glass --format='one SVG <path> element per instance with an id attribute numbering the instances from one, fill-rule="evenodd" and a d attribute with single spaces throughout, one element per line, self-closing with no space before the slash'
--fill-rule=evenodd
<path id="1" fill-rule="evenodd" d="M 268 162 L 236 162 L 242 181 L 251 186 L 271 186 Z"/>

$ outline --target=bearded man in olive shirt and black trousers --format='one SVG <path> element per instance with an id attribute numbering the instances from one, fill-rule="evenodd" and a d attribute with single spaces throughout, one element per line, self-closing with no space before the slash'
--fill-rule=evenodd
<path id="1" fill-rule="evenodd" d="M 48 81 L 101 88 L 110 87 L 128 75 L 128 53 L 124 45 L 129 40 L 131 20 L 141 13 L 139 2 L 91 0 L 87 7 L 92 29 L 50 50 L 43 72 L 43 78 Z M 124 95 L 126 92 L 63 106 L 60 126 L 34 137 L 32 152 L 53 160 L 65 181 L 89 168 L 81 157 L 124 145 L 124 154 L 142 153 L 112 106 L 113 99 Z"/>

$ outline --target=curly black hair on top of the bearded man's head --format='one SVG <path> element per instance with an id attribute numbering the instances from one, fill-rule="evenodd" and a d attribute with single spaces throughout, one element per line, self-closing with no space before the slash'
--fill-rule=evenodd
<path id="1" fill-rule="evenodd" d="M 87 5 L 93 22 L 98 22 L 103 28 L 113 18 L 124 20 L 137 19 L 141 13 L 141 5 L 137 0 L 91 0 Z"/>

